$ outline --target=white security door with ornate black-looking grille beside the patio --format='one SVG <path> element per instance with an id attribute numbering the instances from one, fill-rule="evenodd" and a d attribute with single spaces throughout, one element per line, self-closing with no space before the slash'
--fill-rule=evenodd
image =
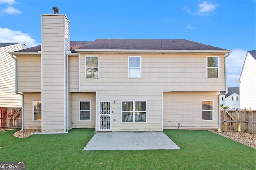
<path id="1" fill-rule="evenodd" d="M 100 131 L 111 131 L 110 102 L 100 102 Z"/>

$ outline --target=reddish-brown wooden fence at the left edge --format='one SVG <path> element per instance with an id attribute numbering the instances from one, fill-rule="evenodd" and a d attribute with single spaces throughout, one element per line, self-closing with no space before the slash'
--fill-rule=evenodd
<path id="1" fill-rule="evenodd" d="M 0 107 L 0 129 L 21 128 L 21 107 Z"/>

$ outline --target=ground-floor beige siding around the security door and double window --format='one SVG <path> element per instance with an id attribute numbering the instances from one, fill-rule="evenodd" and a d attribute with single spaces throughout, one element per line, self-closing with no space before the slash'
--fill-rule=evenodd
<path id="1" fill-rule="evenodd" d="M 114 89 L 105 89 L 97 92 L 97 108 L 101 101 L 110 101 L 112 103 L 111 120 L 112 131 L 161 131 L 162 129 L 162 93 L 161 92 L 147 92 L 139 90 L 125 90 L 122 91 Z M 147 102 L 147 122 L 146 123 L 122 123 L 122 104 L 121 101 L 146 101 Z M 113 104 L 113 102 L 116 104 Z M 99 119 L 99 109 L 97 110 L 97 129 Z M 114 121 L 116 119 L 116 121 Z"/>

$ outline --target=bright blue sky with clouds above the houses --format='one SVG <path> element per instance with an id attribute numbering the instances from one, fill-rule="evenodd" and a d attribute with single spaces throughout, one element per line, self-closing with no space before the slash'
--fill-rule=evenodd
<path id="1" fill-rule="evenodd" d="M 232 50 L 229 87 L 256 49 L 256 0 L 0 0 L 0 42 L 41 44 L 41 14 L 53 6 L 68 16 L 71 41 L 175 38 Z"/>

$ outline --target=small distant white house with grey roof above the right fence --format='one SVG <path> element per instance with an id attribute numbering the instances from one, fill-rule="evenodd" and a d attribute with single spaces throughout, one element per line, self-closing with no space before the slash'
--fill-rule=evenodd
<path id="1" fill-rule="evenodd" d="M 239 109 L 239 98 L 239 87 L 228 87 L 228 94 L 220 96 L 220 107 L 228 106 L 229 109 Z"/>

